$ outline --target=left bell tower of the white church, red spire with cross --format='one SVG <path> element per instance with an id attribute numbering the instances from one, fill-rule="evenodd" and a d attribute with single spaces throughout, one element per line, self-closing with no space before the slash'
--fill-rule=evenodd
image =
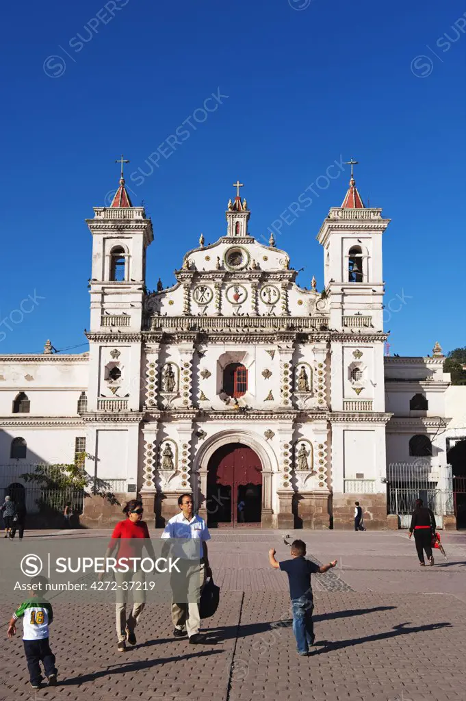
<path id="1" fill-rule="evenodd" d="M 153 240 L 144 207 L 133 207 L 123 177 L 109 207 L 86 219 L 92 234 L 86 470 L 127 498 L 137 489 L 143 417 L 143 301 L 146 248 Z M 120 500 L 121 501 L 121 498 Z M 91 508 L 92 505 L 90 505 Z"/>

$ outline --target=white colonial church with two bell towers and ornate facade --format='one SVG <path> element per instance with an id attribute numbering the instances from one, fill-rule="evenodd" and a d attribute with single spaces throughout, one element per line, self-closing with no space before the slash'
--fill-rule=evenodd
<path id="1" fill-rule="evenodd" d="M 398 527 L 390 469 L 420 461 L 441 484 L 441 348 L 384 355 L 390 219 L 364 207 L 351 175 L 317 233 L 320 293 L 314 278 L 309 290 L 296 284 L 273 236 L 263 245 L 249 235 L 235 188 L 217 243 L 201 236 L 180 252 L 176 284 L 151 293 L 151 219 L 132 206 L 123 172 L 111 205 L 94 207 L 88 353 L 54 353 L 48 341 L 41 355 L 0 355 L 4 493 L 31 465 L 85 451 L 88 473 L 121 502 L 139 494 L 149 523 L 162 525 L 192 492 L 214 527 L 348 528 L 358 500 L 366 525 L 382 529 Z M 120 517 L 100 497 L 84 501 L 87 526 Z"/>

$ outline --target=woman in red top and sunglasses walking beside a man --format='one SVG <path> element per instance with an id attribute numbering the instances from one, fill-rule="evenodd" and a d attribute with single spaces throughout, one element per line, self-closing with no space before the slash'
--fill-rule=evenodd
<path id="1" fill-rule="evenodd" d="M 128 603 L 128 589 L 130 587 L 125 585 L 125 583 L 130 581 L 144 582 L 144 572 L 141 569 L 136 571 L 132 569 L 123 571 L 123 565 L 121 563 L 123 559 L 126 558 L 142 557 L 142 549 L 144 546 L 149 553 L 149 557 L 155 559 L 149 529 L 147 528 L 146 522 L 142 520 L 143 512 L 142 501 L 138 501 L 137 499 L 128 501 L 128 504 L 123 509 L 126 518 L 124 521 L 120 521 L 116 524 L 114 532 L 111 534 L 111 541 L 106 554 L 106 557 L 110 557 L 111 553 L 114 552 L 118 545 L 118 562 L 115 579 L 118 586 L 116 590 L 116 634 L 118 635 L 119 652 L 125 652 L 126 640 L 128 640 L 130 645 L 136 644 L 135 627 L 146 601 L 144 587 L 141 587 L 140 590 L 134 587 L 132 590 L 134 592 L 134 604 L 127 620 L 126 604 Z M 145 540 L 139 540 L 140 538 L 144 538 Z M 118 565 L 121 566 L 122 571 L 118 571 Z"/>

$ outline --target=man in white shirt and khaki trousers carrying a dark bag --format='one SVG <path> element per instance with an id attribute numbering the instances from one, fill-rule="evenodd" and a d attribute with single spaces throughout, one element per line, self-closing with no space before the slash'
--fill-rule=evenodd
<path id="1" fill-rule="evenodd" d="M 179 557 L 181 566 L 180 569 L 186 576 L 186 592 L 189 594 L 189 602 L 177 603 L 172 601 L 172 622 L 174 625 L 174 637 L 179 638 L 186 635 L 189 637 L 191 644 L 196 644 L 202 641 L 199 634 L 200 613 L 199 613 L 199 597 L 203 591 L 205 580 L 212 576 L 212 570 L 209 565 L 209 556 L 207 552 L 206 540 L 210 540 L 210 533 L 205 525 L 204 519 L 198 515 L 193 515 L 193 498 L 191 494 L 181 494 L 178 499 L 179 514 L 172 517 L 165 526 L 162 533 L 162 538 L 182 538 L 183 542 L 176 547 L 176 543 L 172 543 L 172 554 L 174 557 Z M 191 544 L 187 540 L 198 541 Z M 170 546 L 163 547 L 162 556 L 166 557 Z M 193 593 L 195 592 L 194 596 Z M 196 599 L 196 600 L 193 600 Z"/>

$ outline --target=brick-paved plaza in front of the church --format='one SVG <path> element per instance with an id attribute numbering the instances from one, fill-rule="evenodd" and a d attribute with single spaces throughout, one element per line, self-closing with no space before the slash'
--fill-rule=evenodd
<path id="1" fill-rule="evenodd" d="M 2 540 L 2 566 L 11 549 L 26 554 L 36 538 L 53 543 L 77 533 Z M 313 576 L 316 645 L 307 658 L 295 650 L 287 576 L 268 566 L 269 547 L 277 559 L 289 557 L 284 536 L 306 540 L 317 562 L 338 559 L 336 569 Z M 6 638 L 13 602 L 2 601 L 0 701 L 464 700 L 466 533 L 444 533 L 442 542 L 448 559 L 435 551 L 436 565 L 423 569 L 406 531 L 213 531 L 221 604 L 204 622 L 205 644 L 174 639 L 169 608 L 148 604 L 137 645 L 117 653 L 114 606 L 60 603 L 59 595 L 50 629 L 59 683 L 37 692 L 29 687 L 22 625 Z"/>

